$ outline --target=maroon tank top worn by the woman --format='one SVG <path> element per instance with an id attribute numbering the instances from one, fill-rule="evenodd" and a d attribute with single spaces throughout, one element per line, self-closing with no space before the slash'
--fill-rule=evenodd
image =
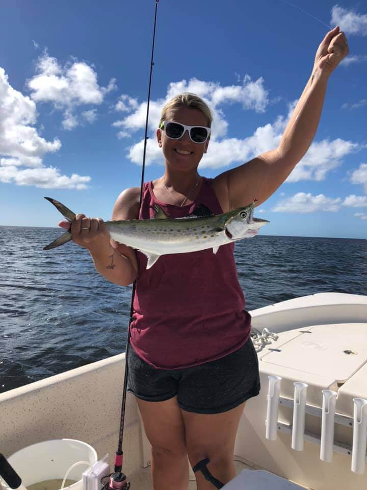
<path id="1" fill-rule="evenodd" d="M 203 178 L 195 201 L 187 206 L 155 198 L 144 184 L 139 219 L 154 216 L 158 203 L 170 218 L 187 216 L 201 204 L 222 213 L 211 179 Z M 139 274 L 130 342 L 137 355 L 161 369 L 182 369 L 213 361 L 242 347 L 250 336 L 251 316 L 233 257 L 234 244 L 185 254 L 162 255 L 146 269 L 137 252 Z"/>

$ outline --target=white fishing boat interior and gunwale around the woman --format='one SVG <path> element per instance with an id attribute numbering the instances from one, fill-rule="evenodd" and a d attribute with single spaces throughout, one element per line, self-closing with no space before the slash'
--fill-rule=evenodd
<path id="1" fill-rule="evenodd" d="M 238 476 L 226 490 L 365 490 L 367 468 L 361 459 L 360 471 L 351 471 L 351 448 L 353 399 L 367 400 L 367 297 L 320 293 L 250 313 L 254 328 L 267 327 L 279 338 L 258 352 L 261 391 L 242 414 L 234 448 Z M 41 441 L 71 438 L 90 444 L 98 458 L 109 453 L 113 468 L 124 372 L 125 355 L 120 354 L 0 394 L 0 452 L 9 457 Z M 265 437 L 269 375 L 282 378 L 284 401 L 278 407 L 274 440 Z M 121 389 L 116 389 L 116 380 Z M 291 448 L 294 382 L 308 385 L 304 448 L 297 451 Z M 337 393 L 331 462 L 320 459 L 324 389 Z M 130 394 L 123 453 L 132 490 L 149 490 L 150 446 Z M 247 484 L 251 479 L 256 483 Z M 189 490 L 194 488 L 195 481 L 190 481 Z"/>

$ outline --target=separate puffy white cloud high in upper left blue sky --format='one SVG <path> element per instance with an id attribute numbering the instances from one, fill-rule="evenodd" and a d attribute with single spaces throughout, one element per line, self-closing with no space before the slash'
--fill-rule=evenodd
<path id="1" fill-rule="evenodd" d="M 107 87 L 100 87 L 96 72 L 87 63 L 74 61 L 61 66 L 56 58 L 48 56 L 47 50 L 39 57 L 36 71 L 38 74 L 28 81 L 31 98 L 64 110 L 63 127 L 68 130 L 78 125 L 73 114 L 77 106 L 101 104 L 104 95 L 117 88 L 115 79 Z"/>

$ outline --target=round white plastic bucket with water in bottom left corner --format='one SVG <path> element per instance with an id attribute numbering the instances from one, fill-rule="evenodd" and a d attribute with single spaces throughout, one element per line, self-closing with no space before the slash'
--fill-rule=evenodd
<path id="1" fill-rule="evenodd" d="M 81 440 L 54 439 L 28 446 L 7 459 L 20 476 L 22 484 L 28 486 L 45 480 L 64 479 L 74 463 L 88 461 L 90 465 L 94 464 L 97 453 L 92 446 Z M 82 476 L 87 469 L 87 464 L 75 466 L 67 476 L 68 480 L 74 480 L 75 483 L 64 488 L 82 490 Z"/>

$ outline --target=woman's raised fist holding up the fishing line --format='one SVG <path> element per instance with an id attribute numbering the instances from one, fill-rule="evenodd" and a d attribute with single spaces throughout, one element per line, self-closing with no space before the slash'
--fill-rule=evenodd
<path id="1" fill-rule="evenodd" d="M 330 74 L 349 53 L 347 38 L 339 32 L 339 26 L 329 31 L 322 40 L 313 69 L 320 68 Z"/>

